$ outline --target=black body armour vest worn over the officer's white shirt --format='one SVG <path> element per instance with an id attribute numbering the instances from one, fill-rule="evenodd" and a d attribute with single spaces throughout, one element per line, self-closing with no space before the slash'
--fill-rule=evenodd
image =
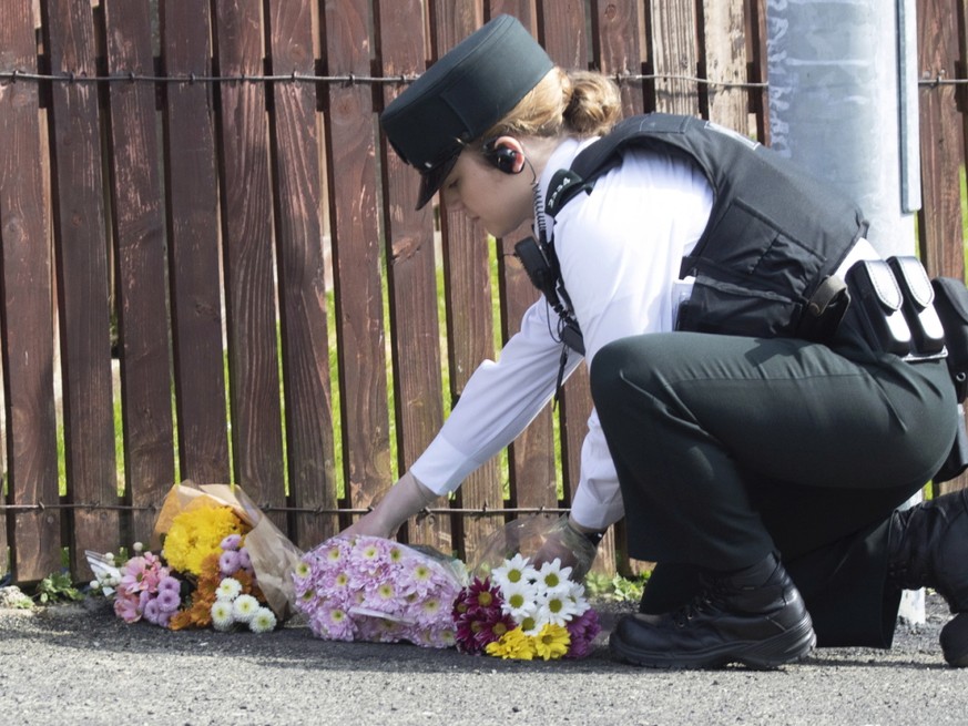
<path id="1" fill-rule="evenodd" d="M 554 216 L 623 153 L 684 155 L 713 187 L 713 208 L 681 278 L 694 277 L 677 329 L 827 340 L 849 301 L 834 273 L 867 233 L 863 213 L 828 184 L 776 152 L 693 116 L 633 116 L 584 149 L 552 177 Z M 552 253 L 553 255 L 553 248 Z"/>

